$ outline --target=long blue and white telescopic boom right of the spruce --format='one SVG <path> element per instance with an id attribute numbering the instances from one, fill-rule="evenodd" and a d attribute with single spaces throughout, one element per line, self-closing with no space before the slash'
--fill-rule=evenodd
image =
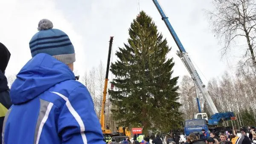
<path id="1" fill-rule="evenodd" d="M 186 66 L 186 68 L 188 69 L 190 75 L 192 76 L 192 79 L 195 81 L 195 83 L 197 84 L 200 92 L 202 93 L 208 107 L 209 110 L 211 111 L 212 115 L 218 113 L 217 108 L 215 107 L 212 98 L 210 97 L 205 85 L 203 84 L 200 76 L 198 75 L 197 70 L 195 69 L 191 59 L 189 58 L 188 53 L 186 52 L 186 50 L 184 49 L 182 43 L 180 42 L 175 30 L 172 28 L 171 23 L 168 20 L 168 17 L 166 16 L 166 14 L 164 13 L 162 7 L 160 6 L 160 3 L 157 0 L 153 0 L 155 6 L 157 7 L 158 12 L 160 13 L 162 20 L 165 22 L 167 28 L 169 29 L 173 39 L 175 40 L 175 43 L 177 44 L 178 48 L 180 51 L 177 51 L 177 55 L 180 57 L 180 59 L 182 60 L 182 62 L 184 63 L 184 65 Z"/>

